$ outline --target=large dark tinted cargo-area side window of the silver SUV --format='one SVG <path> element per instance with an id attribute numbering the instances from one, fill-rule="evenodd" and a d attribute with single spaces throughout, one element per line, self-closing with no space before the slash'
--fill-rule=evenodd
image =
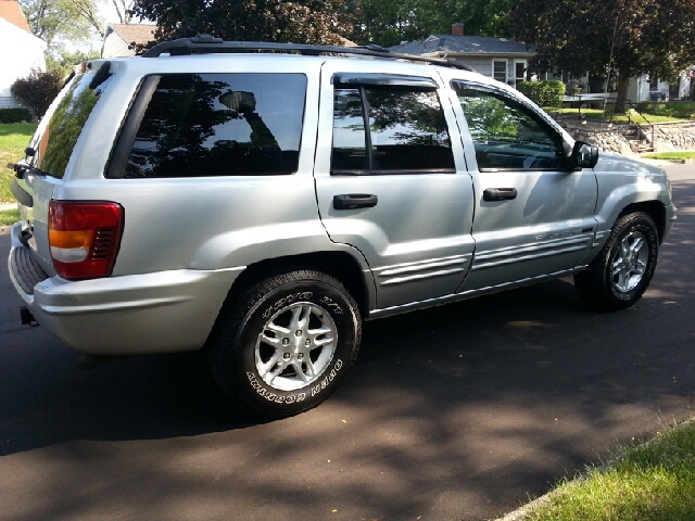
<path id="1" fill-rule="evenodd" d="M 305 91 L 301 74 L 163 75 L 125 177 L 292 174 Z"/>

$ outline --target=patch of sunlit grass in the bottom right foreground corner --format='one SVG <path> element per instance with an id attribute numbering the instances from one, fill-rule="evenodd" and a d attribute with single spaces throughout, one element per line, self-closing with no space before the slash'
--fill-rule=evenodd
<path id="1" fill-rule="evenodd" d="M 695 519 L 695 422 L 667 428 L 646 444 L 620 450 L 614 463 L 560 484 L 523 520 Z"/>

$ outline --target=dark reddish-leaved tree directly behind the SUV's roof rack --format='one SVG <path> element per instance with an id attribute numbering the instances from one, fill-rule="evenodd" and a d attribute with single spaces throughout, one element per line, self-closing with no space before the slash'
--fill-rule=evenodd
<path id="1" fill-rule="evenodd" d="M 132 15 L 155 20 L 156 41 L 212 35 L 226 40 L 340 43 L 352 28 L 343 0 L 136 0 Z"/>

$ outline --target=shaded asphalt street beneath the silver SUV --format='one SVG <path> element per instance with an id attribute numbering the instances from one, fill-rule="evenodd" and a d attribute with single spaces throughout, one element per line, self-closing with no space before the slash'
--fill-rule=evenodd
<path id="1" fill-rule="evenodd" d="M 254 423 L 198 353 L 80 371 L 20 325 L 0 236 L 0 520 L 482 520 L 695 407 L 695 165 L 644 297 L 571 279 L 365 325 L 325 404 Z"/>

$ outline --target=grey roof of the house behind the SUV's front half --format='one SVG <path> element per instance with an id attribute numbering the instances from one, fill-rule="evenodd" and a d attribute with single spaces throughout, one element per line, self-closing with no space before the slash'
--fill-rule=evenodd
<path id="1" fill-rule="evenodd" d="M 389 50 L 404 54 L 535 54 L 535 46 L 527 47 L 510 38 L 454 35 L 430 35 L 424 40 L 402 43 Z"/>

